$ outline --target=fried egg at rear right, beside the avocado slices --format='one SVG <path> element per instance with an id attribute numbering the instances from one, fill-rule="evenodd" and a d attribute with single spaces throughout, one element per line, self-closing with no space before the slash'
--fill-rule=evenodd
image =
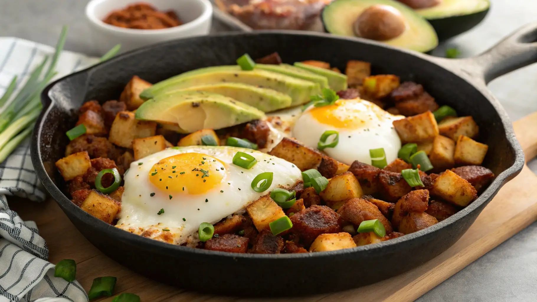
<path id="1" fill-rule="evenodd" d="M 317 148 L 325 131 L 336 130 L 337 145 L 323 150 L 329 157 L 347 165 L 354 160 L 371 164 L 369 149 L 384 148 L 386 160 L 391 163 L 401 149 L 401 139 L 392 122 L 403 118 L 366 100 L 340 99 L 333 105 L 306 109 L 296 120 L 292 136 L 310 148 Z"/>

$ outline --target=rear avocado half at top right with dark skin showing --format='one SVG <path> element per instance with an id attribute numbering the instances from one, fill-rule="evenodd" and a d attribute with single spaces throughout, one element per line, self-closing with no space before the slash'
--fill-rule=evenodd
<path id="1" fill-rule="evenodd" d="M 429 20 L 438 39 L 444 41 L 479 24 L 489 8 L 489 0 L 442 0 L 437 6 L 416 12 Z"/>

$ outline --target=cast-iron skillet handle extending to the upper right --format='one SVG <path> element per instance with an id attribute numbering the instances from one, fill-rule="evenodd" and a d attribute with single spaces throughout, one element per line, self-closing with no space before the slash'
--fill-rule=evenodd
<path id="1" fill-rule="evenodd" d="M 469 77 L 472 82 L 488 84 L 505 73 L 537 62 L 537 23 L 519 28 L 504 40 L 471 58 L 437 61 L 449 70 Z"/>

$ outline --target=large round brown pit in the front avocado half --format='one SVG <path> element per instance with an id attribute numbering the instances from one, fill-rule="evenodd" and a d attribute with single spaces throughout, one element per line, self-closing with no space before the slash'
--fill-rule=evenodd
<path id="1" fill-rule="evenodd" d="M 369 6 L 353 24 L 354 34 L 376 41 L 397 38 L 405 29 L 403 14 L 393 6 L 382 4 Z"/>

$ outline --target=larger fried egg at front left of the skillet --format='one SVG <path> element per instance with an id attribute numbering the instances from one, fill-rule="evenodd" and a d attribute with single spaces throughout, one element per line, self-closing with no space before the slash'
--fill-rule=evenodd
<path id="1" fill-rule="evenodd" d="M 238 152 L 256 158 L 245 169 L 233 164 Z M 252 189 L 252 180 L 273 172 L 271 186 Z M 172 244 L 197 242 L 201 223 L 216 223 L 279 186 L 302 180 L 299 168 L 259 151 L 231 146 L 173 147 L 134 161 L 125 178 L 117 227 Z"/>

